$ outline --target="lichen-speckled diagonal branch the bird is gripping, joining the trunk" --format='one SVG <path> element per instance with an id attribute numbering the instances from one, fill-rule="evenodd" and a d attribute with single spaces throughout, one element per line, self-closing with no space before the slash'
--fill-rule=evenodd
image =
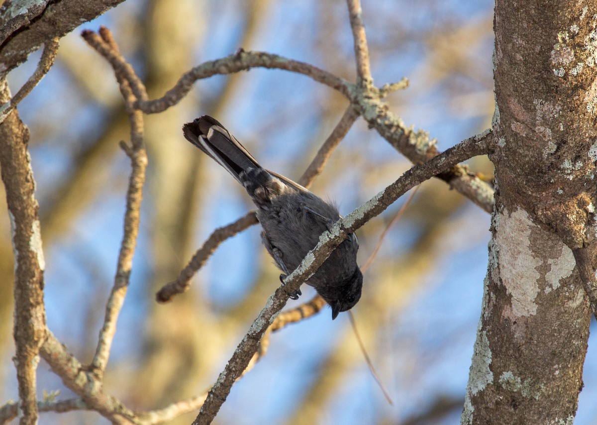
<path id="1" fill-rule="evenodd" d="M 244 369 L 247 367 L 254 353 L 259 347 L 259 340 L 266 332 L 273 318 L 284 307 L 288 300 L 288 294 L 296 291 L 300 285 L 310 278 L 313 273 L 327 259 L 330 253 L 336 248 L 349 233 L 354 232 L 368 220 L 375 217 L 391 205 L 399 196 L 412 189 L 424 180 L 447 170 L 450 167 L 472 158 L 476 155 L 485 155 L 490 149 L 490 137 L 488 133 L 476 135 L 461 141 L 444 153 L 432 158 L 422 165 L 415 165 L 404 173 L 383 192 L 378 193 L 374 198 L 341 220 L 338 220 L 330 231 L 324 232 L 319 243 L 313 250 L 307 253 L 301 264 L 285 280 L 284 285 L 272 294 L 266 302 L 263 310 L 255 319 L 251 328 L 242 339 L 239 346 L 230 358 L 230 361 L 221 372 L 216 383 L 211 388 L 207 399 L 193 424 L 208 424 L 216 417 L 220 406 L 226 401 L 230 389 Z"/>

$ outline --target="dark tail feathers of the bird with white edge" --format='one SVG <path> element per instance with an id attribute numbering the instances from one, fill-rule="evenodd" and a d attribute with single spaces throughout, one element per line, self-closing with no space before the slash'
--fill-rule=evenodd
<path id="1" fill-rule="evenodd" d="M 259 176 L 258 180 L 271 178 L 247 149 L 211 116 L 204 115 L 193 122 L 187 122 L 183 125 L 183 134 L 190 143 L 215 159 L 244 186 L 247 186 L 248 174 L 253 178 Z M 264 184 L 265 181 L 254 183 Z"/>

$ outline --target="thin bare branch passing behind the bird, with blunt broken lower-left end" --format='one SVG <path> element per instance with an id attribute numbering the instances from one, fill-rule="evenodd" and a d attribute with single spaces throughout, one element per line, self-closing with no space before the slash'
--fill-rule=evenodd
<path id="1" fill-rule="evenodd" d="M 342 118 L 340 118 L 340 122 L 338 122 L 330 136 L 324 141 L 321 148 L 319 148 L 317 155 L 315 155 L 307 170 L 298 179 L 298 184 L 307 187 L 307 189 L 311 186 L 313 180 L 324 170 L 325 164 L 334 152 L 334 149 L 336 149 L 340 141 L 348 133 L 356 118 L 358 118 L 358 113 L 353 110 L 352 106 L 349 106 Z M 250 211 L 233 223 L 214 230 L 209 238 L 207 238 L 207 241 L 201 245 L 201 248 L 195 252 L 189 263 L 181 270 L 176 280 L 168 282 L 156 293 L 156 301 L 158 303 L 167 303 L 172 300 L 174 295 L 182 294 L 188 290 L 190 288 L 190 279 L 204 266 L 211 254 L 216 251 L 222 242 L 257 223 L 255 211 Z"/>

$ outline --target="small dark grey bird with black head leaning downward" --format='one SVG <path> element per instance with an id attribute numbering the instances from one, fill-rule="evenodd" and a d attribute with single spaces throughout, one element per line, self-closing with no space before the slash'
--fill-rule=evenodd
<path id="1" fill-rule="evenodd" d="M 282 270 L 280 281 L 315 248 L 319 235 L 341 218 L 338 208 L 281 174 L 266 170 L 219 121 L 208 115 L 183 125 L 186 140 L 224 167 L 257 207 L 261 241 Z M 350 233 L 307 279 L 330 305 L 332 320 L 361 298 L 363 275 L 356 262 L 358 239 Z M 290 295 L 294 300 L 300 288 Z"/>

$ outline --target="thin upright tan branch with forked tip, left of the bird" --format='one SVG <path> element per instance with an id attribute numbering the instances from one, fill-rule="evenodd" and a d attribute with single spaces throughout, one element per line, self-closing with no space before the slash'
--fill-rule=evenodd
<path id="1" fill-rule="evenodd" d="M 144 92 L 145 88 L 140 79 L 134 74 L 133 68 L 122 58 L 118 45 L 116 45 L 112 37 L 112 33 L 106 27 L 100 28 L 99 35 L 91 31 L 84 32 L 84 38 L 112 64 L 122 97 L 125 101 L 125 109 L 127 110 L 128 120 L 131 125 L 132 144 L 132 148 L 127 146 L 128 152 L 125 150 L 131 159 L 132 170 L 127 189 L 124 236 L 118 255 L 114 285 L 106 303 L 104 324 L 100 331 L 96 354 L 90 365 L 90 370 L 101 378 L 110 356 L 110 349 L 112 348 L 112 341 L 116 332 L 116 322 L 118 321 L 118 315 L 130 283 L 133 255 L 137 244 L 137 235 L 139 235 L 140 210 L 141 200 L 143 199 L 147 154 L 143 144 L 143 113 L 134 106 L 138 98 L 134 94 L 132 87 L 135 85 L 137 91 L 141 92 Z M 123 62 L 127 66 L 121 66 Z M 131 81 L 134 83 L 131 83 Z"/>

